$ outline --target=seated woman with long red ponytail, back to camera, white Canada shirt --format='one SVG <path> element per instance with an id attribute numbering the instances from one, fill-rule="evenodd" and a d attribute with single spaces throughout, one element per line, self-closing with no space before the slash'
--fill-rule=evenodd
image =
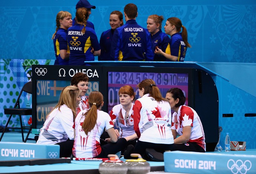
<path id="1" fill-rule="evenodd" d="M 107 158 L 124 149 L 128 138 L 117 138 L 114 124 L 108 113 L 101 111 L 103 96 L 99 91 L 89 95 L 89 110 L 82 110 L 75 119 L 75 141 L 73 157 L 76 158 Z M 108 144 L 102 145 L 100 137 L 103 131 L 109 135 Z"/>

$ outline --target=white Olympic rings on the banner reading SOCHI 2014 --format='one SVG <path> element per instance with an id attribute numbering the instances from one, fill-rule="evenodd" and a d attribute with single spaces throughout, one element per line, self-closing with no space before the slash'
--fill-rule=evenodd
<path id="1" fill-rule="evenodd" d="M 231 166 L 230 166 L 231 165 Z M 250 160 L 243 161 L 237 160 L 236 162 L 232 159 L 227 161 L 227 168 L 229 168 L 233 174 L 246 174 L 252 167 L 252 163 Z"/>

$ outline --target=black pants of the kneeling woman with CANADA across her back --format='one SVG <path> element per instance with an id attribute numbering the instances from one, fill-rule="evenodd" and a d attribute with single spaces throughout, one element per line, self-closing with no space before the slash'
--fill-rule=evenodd
<path id="1" fill-rule="evenodd" d="M 153 148 L 155 151 L 164 153 L 166 150 L 170 150 L 173 147 L 173 144 L 157 144 L 157 143 L 148 143 L 145 141 L 140 141 L 136 143 L 133 153 L 140 154 L 145 160 L 149 160 L 148 156 L 145 153 L 146 148 Z"/>

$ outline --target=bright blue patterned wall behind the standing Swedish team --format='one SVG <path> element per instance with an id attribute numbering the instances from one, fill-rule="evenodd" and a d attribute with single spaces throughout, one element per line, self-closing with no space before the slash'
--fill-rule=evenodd
<path id="1" fill-rule="evenodd" d="M 3 1 L 0 7 L 0 58 L 54 59 L 51 37 L 56 28 L 56 14 L 66 10 L 74 17 L 77 1 Z M 137 21 L 143 27 L 151 14 L 163 15 L 163 23 L 168 17 L 182 20 L 192 45 L 185 61 L 256 63 L 255 0 L 129 2 L 137 4 Z M 111 11 L 123 12 L 128 2 L 90 0 L 90 3 L 96 9 L 92 9 L 89 20 L 100 37 L 102 31 L 110 28 Z"/>

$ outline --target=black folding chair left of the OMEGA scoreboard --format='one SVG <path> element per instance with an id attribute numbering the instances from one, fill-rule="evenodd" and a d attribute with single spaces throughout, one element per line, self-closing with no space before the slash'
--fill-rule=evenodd
<path id="1" fill-rule="evenodd" d="M 29 94 L 32 94 L 32 81 L 29 81 L 27 82 L 26 84 L 24 84 L 24 86 L 22 87 L 22 90 L 20 91 L 20 94 L 19 94 L 19 97 L 17 98 L 17 101 L 14 105 L 13 108 L 4 108 L 4 114 L 6 115 L 10 115 L 7 123 L 6 123 L 6 126 L 4 127 L 4 131 L 0 137 L 0 141 L 2 140 L 3 138 L 3 135 L 4 133 L 6 132 L 6 129 L 7 128 L 13 128 L 13 129 L 21 129 L 21 132 L 22 132 L 22 141 L 24 143 L 26 143 L 28 137 L 29 137 L 29 134 L 32 130 L 32 124 L 30 126 L 23 126 L 22 124 L 22 116 L 29 116 L 29 115 L 32 115 L 32 108 L 20 108 L 20 96 L 22 96 L 22 92 L 26 92 L 26 93 L 29 93 Z M 13 115 L 19 115 L 20 117 L 20 127 L 8 127 L 8 124 L 12 118 Z M 27 136 L 24 140 L 24 133 L 23 133 L 23 130 L 29 130 L 28 133 L 27 133 Z"/>

